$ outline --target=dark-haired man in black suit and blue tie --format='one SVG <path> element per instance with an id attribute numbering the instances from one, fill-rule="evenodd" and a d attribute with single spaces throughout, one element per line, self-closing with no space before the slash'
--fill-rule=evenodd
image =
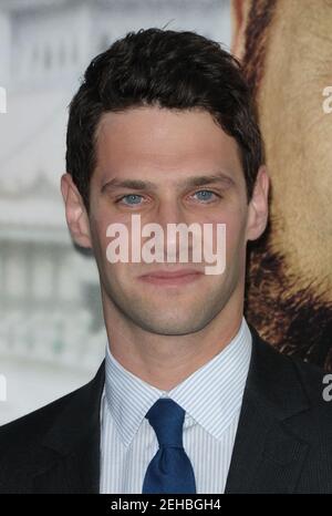
<path id="1" fill-rule="evenodd" d="M 322 372 L 243 318 L 246 247 L 266 228 L 269 180 L 238 63 L 191 32 L 129 33 L 87 68 L 66 143 L 66 220 L 96 259 L 106 359 L 87 385 L 1 429 L 0 491 L 331 492 Z M 148 225 L 172 224 L 208 225 L 214 248 L 225 225 L 226 268 L 194 260 L 195 231 L 188 264 L 174 237 L 162 252 L 154 241 L 156 260 L 111 252 L 123 228 L 137 256 Z"/>

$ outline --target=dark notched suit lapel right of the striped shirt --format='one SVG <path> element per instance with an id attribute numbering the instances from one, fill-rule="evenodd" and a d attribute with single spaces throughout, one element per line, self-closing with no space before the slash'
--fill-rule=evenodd
<path id="1" fill-rule="evenodd" d="M 294 368 L 256 330 L 226 493 L 292 493 L 308 444 L 291 430 L 308 401 Z"/>

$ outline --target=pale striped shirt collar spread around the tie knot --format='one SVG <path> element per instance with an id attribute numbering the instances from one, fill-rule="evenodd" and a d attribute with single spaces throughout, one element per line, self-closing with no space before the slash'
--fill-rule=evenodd
<path id="1" fill-rule="evenodd" d="M 145 414 L 162 396 L 169 396 L 216 438 L 239 412 L 251 355 L 252 338 L 245 317 L 234 339 L 210 361 L 170 391 L 162 391 L 126 370 L 106 345 L 106 410 L 128 446 Z"/>

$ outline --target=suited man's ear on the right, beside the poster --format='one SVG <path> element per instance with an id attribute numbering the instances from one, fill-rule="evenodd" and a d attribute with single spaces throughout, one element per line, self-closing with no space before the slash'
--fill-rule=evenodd
<path id="1" fill-rule="evenodd" d="M 264 231 L 269 217 L 269 176 L 267 167 L 260 166 L 248 207 L 247 240 L 256 240 Z"/>

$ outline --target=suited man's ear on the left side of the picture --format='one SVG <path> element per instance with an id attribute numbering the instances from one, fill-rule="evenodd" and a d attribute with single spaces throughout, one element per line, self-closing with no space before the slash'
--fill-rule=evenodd
<path id="1" fill-rule="evenodd" d="M 77 246 L 91 248 L 89 216 L 80 192 L 70 174 L 61 177 L 61 193 L 65 206 L 65 218 L 71 236 Z"/>

